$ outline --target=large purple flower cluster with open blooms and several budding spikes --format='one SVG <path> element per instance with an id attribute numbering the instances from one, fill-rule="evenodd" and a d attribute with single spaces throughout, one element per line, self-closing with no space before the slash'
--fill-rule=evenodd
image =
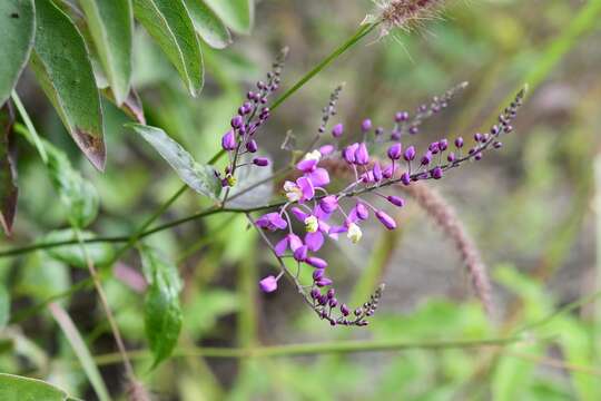
<path id="1" fill-rule="evenodd" d="M 383 127 L 374 127 L 371 119 L 364 119 L 357 129 L 363 139 L 346 146 L 339 145 L 342 138 L 349 136 L 345 135 L 343 124 L 334 125 L 331 136 L 327 136 L 329 139 L 324 140 L 327 121 L 336 115 L 335 104 L 341 88 L 336 89 L 324 109 L 322 125 L 312 143 L 315 148 L 312 146 L 312 150 L 304 153 L 295 164 L 294 178 L 283 185 L 287 200 L 277 211 L 254 222 L 259 229 L 282 233 L 273 252 L 280 260 L 293 258 L 297 266 L 296 274 L 293 274 L 282 263 L 279 275 L 269 275 L 259 282 L 264 292 L 276 291 L 278 281 L 287 274 L 321 319 L 332 325 L 363 326 L 368 323 L 366 317 L 375 312 L 383 287 L 352 314 L 351 307 L 336 299 L 333 280 L 327 274 L 328 263 L 318 252 L 326 241 L 339 241 L 341 237 L 357 244 L 362 241 L 362 226 L 371 217 L 375 217 L 385 228 L 395 229 L 397 222 L 384 206 L 400 208 L 405 200 L 386 194 L 387 186 L 441 179 L 449 169 L 469 160 L 481 160 L 486 150 L 502 146 L 500 136 L 513 130 L 511 121 L 522 104 L 523 91 L 500 115 L 499 124 L 487 133 L 473 135 L 472 146 L 467 146 L 467 140 L 460 136 L 435 140 L 420 153 L 408 144 L 418 133 L 422 121 L 445 108 L 456 91 L 464 87 L 465 84 L 462 84 L 441 97 L 432 98 L 431 102 L 420 106 L 413 116 L 407 111 L 396 113 L 387 134 Z M 319 141 L 324 143 L 318 146 Z M 329 190 L 327 166 L 332 160 L 343 163 L 351 173 L 348 176 L 353 177 L 342 190 Z M 311 283 L 298 281 L 303 266 L 312 268 Z"/>

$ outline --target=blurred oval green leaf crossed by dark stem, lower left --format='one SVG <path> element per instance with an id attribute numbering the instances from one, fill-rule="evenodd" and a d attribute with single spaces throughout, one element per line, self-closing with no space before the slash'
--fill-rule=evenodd
<path id="1" fill-rule="evenodd" d="M 95 235 L 90 232 L 82 232 L 81 236 L 83 239 L 91 239 L 95 237 Z M 76 233 L 70 228 L 67 228 L 67 229 L 57 229 L 57 231 L 50 232 L 48 235 L 43 237 L 42 243 L 76 241 L 76 239 L 77 239 Z M 93 263 L 97 266 L 109 264 L 112 261 L 112 257 L 115 255 L 115 248 L 110 244 L 107 244 L 107 243 L 86 244 L 86 250 L 87 250 L 88 255 L 90 255 L 90 258 L 93 261 Z M 77 266 L 77 267 L 88 266 L 88 264 L 86 263 L 86 255 L 83 254 L 83 251 L 81 250 L 80 244 L 57 246 L 53 248 L 49 248 L 46 252 L 53 258 L 65 262 L 69 265 Z"/>

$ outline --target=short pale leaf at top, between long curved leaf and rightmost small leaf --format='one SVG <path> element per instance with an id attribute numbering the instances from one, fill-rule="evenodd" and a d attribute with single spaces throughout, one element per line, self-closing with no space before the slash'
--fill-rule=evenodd
<path id="1" fill-rule="evenodd" d="M 194 28 L 215 49 L 231 43 L 231 36 L 219 17 L 203 0 L 185 0 Z"/>

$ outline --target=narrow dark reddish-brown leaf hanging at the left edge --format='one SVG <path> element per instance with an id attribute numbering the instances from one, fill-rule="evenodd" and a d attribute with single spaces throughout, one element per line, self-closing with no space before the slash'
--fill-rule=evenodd
<path id="1" fill-rule="evenodd" d="M 10 105 L 7 104 L 0 108 L 0 225 L 7 235 L 10 235 L 12 231 L 19 193 L 9 147 L 13 124 L 14 114 Z"/>

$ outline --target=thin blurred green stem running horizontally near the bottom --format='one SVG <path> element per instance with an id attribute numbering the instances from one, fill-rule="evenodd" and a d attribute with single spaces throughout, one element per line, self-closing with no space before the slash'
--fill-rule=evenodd
<path id="1" fill-rule="evenodd" d="M 484 339 L 484 340 L 443 340 L 443 341 L 336 341 L 324 343 L 288 344 L 274 346 L 246 348 L 193 348 L 177 349 L 173 356 L 205 356 L 224 359 L 244 358 L 275 358 L 275 356 L 305 356 L 332 353 L 358 353 L 358 352 L 385 352 L 407 350 L 449 350 L 449 349 L 474 349 L 483 346 L 505 346 L 514 343 L 531 343 L 543 340 L 526 340 L 521 336 Z M 148 351 L 135 351 L 129 353 L 130 359 L 149 359 L 152 355 Z M 99 365 L 119 362 L 117 354 L 104 354 L 95 358 Z"/>

